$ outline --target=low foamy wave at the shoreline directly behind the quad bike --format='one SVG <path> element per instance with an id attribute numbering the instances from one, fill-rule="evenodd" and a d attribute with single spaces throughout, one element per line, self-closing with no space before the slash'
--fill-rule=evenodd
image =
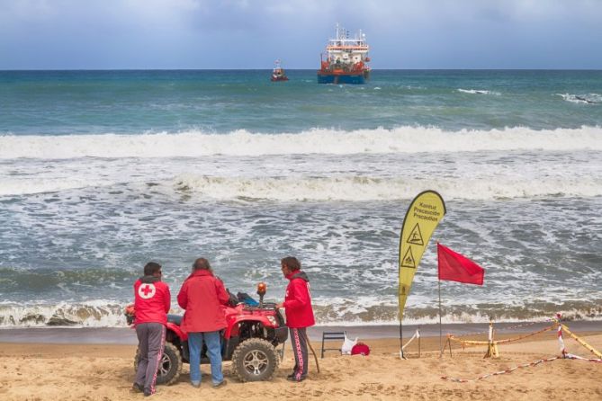
<path id="1" fill-rule="evenodd" d="M 123 309 L 128 303 L 90 300 L 78 303 L 17 305 L 0 304 L 0 327 L 125 327 Z M 362 297 L 351 299 L 321 299 L 314 302 L 317 325 L 398 325 L 397 305 L 376 303 L 366 305 Z M 557 312 L 565 320 L 602 320 L 602 299 L 591 301 L 526 302 L 524 305 L 490 304 L 443 308 L 443 322 L 487 323 L 544 321 Z M 181 315 L 175 307 L 170 313 Z M 406 307 L 404 324 L 429 325 L 438 323 L 437 307 Z"/>

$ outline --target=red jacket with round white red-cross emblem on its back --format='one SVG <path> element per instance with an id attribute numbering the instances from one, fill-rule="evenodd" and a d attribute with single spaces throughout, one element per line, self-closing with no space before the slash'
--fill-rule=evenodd
<path id="1" fill-rule="evenodd" d="M 171 307 L 169 287 L 153 276 L 140 277 L 134 283 L 134 324 L 167 323 L 167 312 Z"/>

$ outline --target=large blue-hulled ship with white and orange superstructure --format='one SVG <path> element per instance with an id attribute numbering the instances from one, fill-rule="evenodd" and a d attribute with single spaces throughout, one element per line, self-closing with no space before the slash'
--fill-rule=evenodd
<path id="1" fill-rule="evenodd" d="M 355 37 L 337 23 L 337 36 L 328 40 L 326 59 L 321 55 L 321 66 L 318 70 L 319 84 L 364 84 L 370 76 L 370 47 L 361 30 Z"/>

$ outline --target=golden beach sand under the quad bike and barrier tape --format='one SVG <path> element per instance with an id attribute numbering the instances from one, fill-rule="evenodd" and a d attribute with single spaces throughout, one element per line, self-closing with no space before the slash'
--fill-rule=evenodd
<path id="1" fill-rule="evenodd" d="M 580 333 L 592 346 L 602 349 L 602 334 Z M 483 339 L 482 335 L 479 337 Z M 593 357 L 574 340 L 565 337 L 569 352 Z M 518 343 L 500 345 L 499 359 L 483 359 L 485 347 L 462 349 L 454 346 L 439 358 L 438 337 L 423 337 L 406 350 L 401 361 L 398 339 L 366 340 L 369 356 L 341 356 L 327 352 L 319 360 L 321 372 L 310 361 L 309 379 L 291 383 L 290 343 L 284 360 L 268 382 L 240 383 L 229 373 L 225 388 L 211 388 L 209 365 L 202 365 L 200 389 L 188 384 L 188 365 L 172 386 L 157 387 L 150 399 L 376 399 L 376 400 L 602 400 L 602 363 L 555 360 L 534 367 L 482 379 L 457 383 L 442 376 L 473 379 L 486 373 L 507 370 L 519 364 L 559 355 L 555 332 L 538 334 Z M 319 352 L 319 343 L 313 342 Z M 0 343 L 0 399 L 9 400 L 135 400 L 130 393 L 134 377 L 131 344 Z"/>

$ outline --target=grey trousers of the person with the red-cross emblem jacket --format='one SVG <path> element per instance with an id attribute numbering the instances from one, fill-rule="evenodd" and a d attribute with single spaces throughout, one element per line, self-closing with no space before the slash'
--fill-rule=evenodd
<path id="1" fill-rule="evenodd" d="M 145 393 L 155 394 L 157 370 L 166 342 L 166 327 L 160 323 L 142 323 L 136 325 L 136 334 L 140 359 L 134 382 L 143 387 Z"/>

